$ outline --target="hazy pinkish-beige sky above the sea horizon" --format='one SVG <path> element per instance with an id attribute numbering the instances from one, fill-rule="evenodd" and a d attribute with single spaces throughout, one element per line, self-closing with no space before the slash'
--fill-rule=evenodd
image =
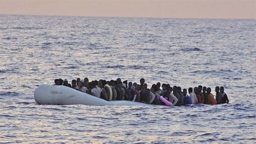
<path id="1" fill-rule="evenodd" d="M 256 0 L 0 0 L 0 14 L 256 19 Z"/>

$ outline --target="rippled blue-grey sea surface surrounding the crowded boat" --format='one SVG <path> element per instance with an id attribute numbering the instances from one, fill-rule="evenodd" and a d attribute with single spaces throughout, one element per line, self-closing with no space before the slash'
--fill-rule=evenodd
<path id="1" fill-rule="evenodd" d="M 35 105 L 55 78 L 224 86 L 229 104 Z M 256 143 L 256 20 L 0 15 L 0 143 Z"/>

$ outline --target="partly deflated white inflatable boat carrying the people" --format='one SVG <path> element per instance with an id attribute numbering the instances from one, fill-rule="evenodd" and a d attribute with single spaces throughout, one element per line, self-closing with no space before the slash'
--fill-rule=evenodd
<path id="1" fill-rule="evenodd" d="M 34 92 L 36 105 L 116 105 L 149 106 L 141 102 L 127 100 L 106 101 L 95 96 L 62 85 L 40 85 Z M 152 106 L 152 105 L 151 105 Z"/>

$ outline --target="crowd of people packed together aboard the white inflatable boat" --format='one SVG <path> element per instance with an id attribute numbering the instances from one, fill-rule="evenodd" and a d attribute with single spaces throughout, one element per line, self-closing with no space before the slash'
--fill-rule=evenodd
<path id="1" fill-rule="evenodd" d="M 173 106 L 182 106 L 188 104 L 223 104 L 229 103 L 228 96 L 224 92 L 224 87 L 215 87 L 215 98 L 211 93 L 211 88 L 199 85 L 198 87 L 189 87 L 181 89 L 180 86 L 170 86 L 170 84 L 162 84 L 157 82 L 150 88 L 145 83 L 145 79 L 140 79 L 140 84 L 132 83 L 127 80 L 121 81 L 121 78 L 116 80 L 94 80 L 89 82 L 89 79 L 77 78 L 73 79 L 71 84 L 68 80 L 55 79 L 55 85 L 64 85 L 78 91 L 93 95 L 95 97 L 110 101 L 110 100 L 130 100 L 147 104 L 164 105 L 159 98 L 163 96 L 170 101 Z M 162 89 L 160 88 L 162 87 Z"/>

